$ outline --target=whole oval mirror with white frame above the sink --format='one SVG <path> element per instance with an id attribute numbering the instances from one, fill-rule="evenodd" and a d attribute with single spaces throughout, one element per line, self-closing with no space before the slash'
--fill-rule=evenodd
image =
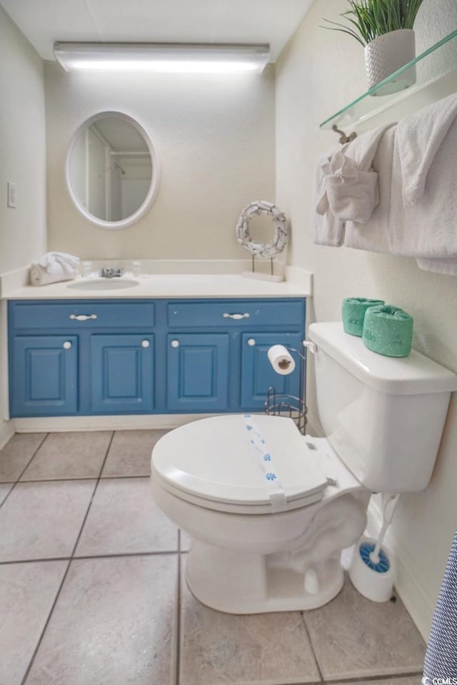
<path id="1" fill-rule="evenodd" d="M 66 183 L 76 207 L 101 228 L 126 228 L 154 202 L 159 162 L 143 126 L 121 112 L 101 112 L 74 134 Z"/>

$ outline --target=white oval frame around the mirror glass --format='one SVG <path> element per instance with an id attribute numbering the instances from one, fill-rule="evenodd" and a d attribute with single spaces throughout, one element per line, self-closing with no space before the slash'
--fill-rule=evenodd
<path id="1" fill-rule="evenodd" d="M 149 153 L 151 155 L 152 176 L 151 186 L 149 186 L 148 194 L 146 195 L 146 198 L 144 198 L 144 202 L 136 210 L 136 212 L 134 212 L 130 216 L 127 216 L 125 219 L 121 219 L 119 221 L 107 221 L 106 219 L 99 219 L 94 214 L 91 214 L 88 210 L 86 210 L 86 208 L 83 207 L 83 205 L 81 205 L 79 198 L 76 196 L 70 178 L 70 159 L 71 153 L 73 152 L 74 146 L 76 144 L 76 139 L 78 138 L 79 134 L 85 131 L 86 128 L 91 126 L 92 123 L 94 123 L 95 121 L 99 121 L 99 119 L 101 118 L 106 118 L 107 116 L 124 119 L 124 121 L 128 121 L 129 123 L 131 123 L 131 125 L 134 126 L 139 133 L 141 133 L 141 136 L 143 136 L 144 140 L 146 141 L 146 145 L 148 146 Z M 79 212 L 84 216 L 84 218 L 86 218 L 91 223 L 94 223 L 96 226 L 99 226 L 99 228 L 119 230 L 121 228 L 127 228 L 128 226 L 131 226 L 133 223 L 136 223 L 136 221 L 141 219 L 146 214 L 146 212 L 151 208 L 151 205 L 154 203 L 156 195 L 159 191 L 160 182 L 159 157 L 157 155 L 156 148 L 154 146 L 154 143 L 152 142 L 152 138 L 149 135 L 148 131 L 146 131 L 146 128 L 144 128 L 144 126 L 141 126 L 141 123 L 136 121 L 136 119 L 133 116 L 130 116 L 129 114 L 120 111 L 98 112 L 93 116 L 87 118 L 85 121 L 83 121 L 83 123 L 81 123 L 81 126 L 79 126 L 76 129 L 73 137 L 71 138 L 69 151 L 66 155 L 65 178 L 66 187 L 68 188 L 71 200 L 73 201 L 76 209 L 79 210 Z"/>

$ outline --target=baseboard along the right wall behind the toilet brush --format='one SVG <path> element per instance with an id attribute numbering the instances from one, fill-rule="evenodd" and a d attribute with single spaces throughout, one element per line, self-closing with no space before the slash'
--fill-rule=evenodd
<path id="1" fill-rule="evenodd" d="M 381 524 L 381 507 L 376 501 L 376 497 L 371 497 L 368 507 L 368 535 L 376 538 L 381 529 Z M 417 572 L 417 564 L 411 559 L 406 547 L 396 539 L 392 528 L 387 530 L 385 544 L 396 563 L 395 587 L 398 597 L 405 605 L 421 636 L 427 641 L 436 597 L 432 597 L 431 593 L 428 592 Z"/>

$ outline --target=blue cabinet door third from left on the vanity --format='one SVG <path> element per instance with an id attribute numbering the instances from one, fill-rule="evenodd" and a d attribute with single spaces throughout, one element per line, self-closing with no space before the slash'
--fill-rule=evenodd
<path id="1" fill-rule="evenodd" d="M 216 412 L 229 406 L 229 334 L 167 336 L 167 410 Z"/>

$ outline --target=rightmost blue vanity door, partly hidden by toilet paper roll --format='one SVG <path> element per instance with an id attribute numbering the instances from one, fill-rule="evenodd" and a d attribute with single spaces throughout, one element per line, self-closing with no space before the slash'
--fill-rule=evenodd
<path id="1" fill-rule="evenodd" d="M 263 410 L 268 387 L 276 392 L 298 397 L 301 360 L 291 353 L 296 362 L 290 375 L 279 375 L 273 371 L 268 360 L 268 349 L 272 345 L 285 345 L 296 350 L 303 348 L 299 333 L 243 333 L 241 336 L 241 409 Z"/>

